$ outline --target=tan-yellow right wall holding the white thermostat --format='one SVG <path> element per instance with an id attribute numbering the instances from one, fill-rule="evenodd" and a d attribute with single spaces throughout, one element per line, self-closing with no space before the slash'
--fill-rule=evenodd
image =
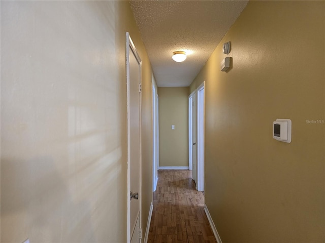
<path id="1" fill-rule="evenodd" d="M 325 2 L 251 1 L 191 84 L 206 80 L 206 205 L 223 243 L 325 241 L 324 47 Z M 272 138 L 276 118 L 292 120 L 290 144 Z"/>

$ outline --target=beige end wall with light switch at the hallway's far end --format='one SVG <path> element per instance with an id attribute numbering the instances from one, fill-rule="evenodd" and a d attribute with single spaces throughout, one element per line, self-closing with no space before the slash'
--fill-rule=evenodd
<path id="1" fill-rule="evenodd" d="M 158 87 L 159 167 L 188 166 L 188 87 Z M 175 125 L 175 130 L 171 126 Z"/>

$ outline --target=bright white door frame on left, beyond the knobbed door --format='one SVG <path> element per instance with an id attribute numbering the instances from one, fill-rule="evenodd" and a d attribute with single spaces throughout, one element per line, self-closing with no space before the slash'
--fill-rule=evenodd
<path id="1" fill-rule="evenodd" d="M 154 83 L 152 82 L 152 191 L 157 188 L 158 182 L 158 94 Z"/>

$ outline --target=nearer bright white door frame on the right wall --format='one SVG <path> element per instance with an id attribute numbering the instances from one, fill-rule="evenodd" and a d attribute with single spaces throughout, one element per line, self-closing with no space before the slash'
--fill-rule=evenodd
<path id="1" fill-rule="evenodd" d="M 205 163 L 204 163 L 204 110 L 205 110 L 205 81 L 197 89 L 197 172 L 198 172 L 198 191 L 204 191 L 204 174 L 205 174 Z"/>

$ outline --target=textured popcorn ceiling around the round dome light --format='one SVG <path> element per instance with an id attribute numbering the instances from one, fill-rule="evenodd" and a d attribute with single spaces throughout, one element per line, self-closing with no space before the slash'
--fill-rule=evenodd
<path id="1" fill-rule="evenodd" d="M 130 1 L 158 87 L 189 86 L 247 2 Z"/>

